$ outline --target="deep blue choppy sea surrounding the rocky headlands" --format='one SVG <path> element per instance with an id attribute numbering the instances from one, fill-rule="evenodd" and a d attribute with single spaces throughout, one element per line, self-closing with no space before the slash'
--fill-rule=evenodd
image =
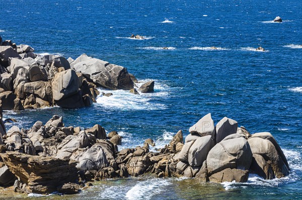
<path id="1" fill-rule="evenodd" d="M 251 174 L 247 183 L 129 177 L 43 199 L 302 198 L 301 1 L 0 0 L 0 7 L 5 40 L 66 58 L 86 53 L 126 67 L 138 85 L 156 82 L 155 93 L 112 91 L 81 109 L 6 111 L 4 118 L 17 119 L 19 127 L 56 114 L 67 126 L 100 124 L 118 131 L 119 149 L 142 145 L 146 138 L 159 148 L 180 129 L 189 134 L 210 112 L 215 123 L 227 116 L 251 133 L 272 133 L 291 168 L 281 179 Z M 273 23 L 277 16 L 282 23 Z M 131 34 L 144 39 L 130 39 Z M 264 52 L 255 51 L 260 46 Z M 28 198 L 40 198 L 35 196 Z"/>

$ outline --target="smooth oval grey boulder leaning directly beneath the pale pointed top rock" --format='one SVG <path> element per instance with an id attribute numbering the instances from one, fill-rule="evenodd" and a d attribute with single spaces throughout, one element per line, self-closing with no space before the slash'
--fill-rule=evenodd
<path id="1" fill-rule="evenodd" d="M 188 162 L 191 166 L 201 166 L 203 161 L 215 145 L 211 135 L 203 136 L 198 138 L 194 144 L 190 147 L 188 153 Z"/>

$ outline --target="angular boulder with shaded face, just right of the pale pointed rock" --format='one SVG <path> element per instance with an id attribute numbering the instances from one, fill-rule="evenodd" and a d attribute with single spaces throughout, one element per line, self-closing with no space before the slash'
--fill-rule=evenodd
<path id="1" fill-rule="evenodd" d="M 228 117 L 223 117 L 216 124 L 216 133 L 215 133 L 216 143 L 219 143 L 226 136 L 236 133 L 237 128 L 238 128 L 237 121 L 230 119 Z"/>

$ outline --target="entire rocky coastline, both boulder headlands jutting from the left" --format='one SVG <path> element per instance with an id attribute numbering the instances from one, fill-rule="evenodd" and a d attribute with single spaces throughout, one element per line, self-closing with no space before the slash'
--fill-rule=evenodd
<path id="1" fill-rule="evenodd" d="M 75 60 L 39 55 L 28 45 L 17 46 L 1 37 L 0 59 L 1 187 L 22 193 L 72 194 L 107 178 L 154 175 L 246 182 L 250 173 L 273 179 L 290 171 L 270 133 L 250 134 L 228 117 L 214 123 L 210 113 L 189 128 L 188 136 L 179 130 L 156 151 L 150 150 L 150 145 L 156 147 L 152 138 L 119 151 L 117 145 L 123 142 L 116 131 L 107 134 L 99 124 L 84 130 L 65 126 L 57 115 L 46 123 L 35 122 L 30 129 L 7 130 L 2 110 L 90 106 L 100 95 L 99 87 L 139 95 L 154 92 L 155 82 L 137 88 L 135 76 L 122 66 L 86 54 Z"/>

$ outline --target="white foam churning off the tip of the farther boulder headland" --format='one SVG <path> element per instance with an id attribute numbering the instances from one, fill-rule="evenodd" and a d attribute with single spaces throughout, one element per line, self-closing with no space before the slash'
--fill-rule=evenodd
<path id="1" fill-rule="evenodd" d="M 139 88 L 143 83 L 149 81 L 149 79 L 140 80 L 137 83 Z M 161 97 L 161 99 L 169 96 L 169 87 L 162 83 L 162 81 L 155 80 L 155 86 L 153 93 L 140 93 L 135 95 L 126 90 L 105 90 L 99 89 L 100 93 L 112 93 L 110 97 L 99 95 L 96 99 L 97 106 L 103 106 L 105 108 L 114 110 L 162 110 L 166 109 L 165 104 L 150 102 L 153 99 Z"/>

